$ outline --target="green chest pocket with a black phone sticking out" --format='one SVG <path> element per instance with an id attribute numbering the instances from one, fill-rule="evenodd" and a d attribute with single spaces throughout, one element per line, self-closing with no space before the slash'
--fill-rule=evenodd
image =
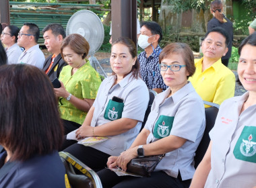
<path id="1" fill-rule="evenodd" d="M 104 113 L 104 118 L 110 121 L 122 118 L 124 105 L 124 103 L 119 103 L 117 101 L 109 99 L 108 105 L 106 106 L 106 110 Z"/>

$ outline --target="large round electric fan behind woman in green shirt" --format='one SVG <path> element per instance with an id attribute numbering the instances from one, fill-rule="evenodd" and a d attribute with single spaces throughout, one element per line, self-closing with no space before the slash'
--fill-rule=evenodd
<path id="1" fill-rule="evenodd" d="M 88 55 L 90 56 L 90 64 L 97 70 L 100 71 L 106 77 L 102 66 L 94 56 L 95 52 L 98 51 L 104 40 L 104 28 L 98 15 L 92 11 L 81 10 L 74 13 L 67 22 L 66 28 L 67 35 L 69 34 L 80 34 L 90 44 L 90 50 Z"/>

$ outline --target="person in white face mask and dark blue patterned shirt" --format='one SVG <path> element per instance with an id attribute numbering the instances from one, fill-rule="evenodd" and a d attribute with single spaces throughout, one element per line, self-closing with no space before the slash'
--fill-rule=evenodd
<path id="1" fill-rule="evenodd" d="M 167 88 L 158 67 L 158 57 L 162 50 L 159 46 L 162 40 L 162 29 L 154 21 L 145 21 L 141 23 L 140 33 L 138 44 L 144 49 L 138 56 L 140 75 L 149 89 L 160 93 Z"/>

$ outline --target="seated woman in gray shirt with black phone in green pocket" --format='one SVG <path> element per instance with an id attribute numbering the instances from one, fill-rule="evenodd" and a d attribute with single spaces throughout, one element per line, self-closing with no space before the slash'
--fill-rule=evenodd
<path id="1" fill-rule="evenodd" d="M 64 150 L 94 171 L 104 169 L 110 155 L 129 148 L 141 129 L 149 93 L 139 78 L 136 54 L 135 44 L 128 38 L 113 43 L 110 56 L 113 76 L 104 79 L 86 120 L 76 131 L 77 138 L 108 136 L 108 140 L 90 147 L 73 144 Z"/>

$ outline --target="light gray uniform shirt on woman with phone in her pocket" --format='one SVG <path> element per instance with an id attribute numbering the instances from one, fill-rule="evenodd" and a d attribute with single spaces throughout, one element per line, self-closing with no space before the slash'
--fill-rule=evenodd
<path id="1" fill-rule="evenodd" d="M 110 122 L 110 120 L 104 118 L 104 112 L 109 99 L 114 96 L 123 99 L 122 118 L 130 118 L 139 122 L 131 130 L 116 136 L 108 136 L 108 140 L 105 142 L 94 144 L 91 147 L 110 155 L 119 156 L 121 152 L 131 146 L 137 134 L 139 134 L 141 122 L 143 122 L 150 98 L 146 84 L 141 79 L 132 78 L 131 73 L 117 85 L 113 86 L 113 83 L 115 83 L 115 76 L 108 77 L 102 81 L 93 104 L 95 109 L 91 126 L 102 126 Z"/>

